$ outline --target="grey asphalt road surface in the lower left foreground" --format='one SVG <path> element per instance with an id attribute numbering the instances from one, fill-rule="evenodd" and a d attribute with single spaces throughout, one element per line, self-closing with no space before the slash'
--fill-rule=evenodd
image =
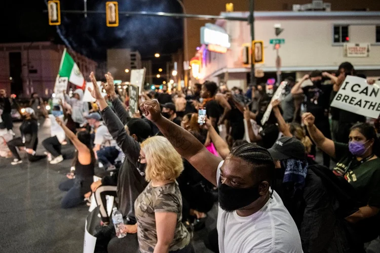
<path id="1" fill-rule="evenodd" d="M 39 142 L 50 137 L 50 121 L 41 120 Z M 19 136 L 20 123 L 15 123 L 14 131 Z M 37 154 L 43 154 L 39 145 Z M 83 252 L 85 219 L 88 206 L 61 209 L 60 200 L 64 192 L 58 184 L 65 180 L 69 172 L 73 147 L 63 146 L 62 153 L 68 159 L 51 165 L 46 159 L 30 163 L 25 153 L 21 153 L 23 163 L 11 165 L 12 159 L 0 158 L 0 252 L 1 253 L 79 253 Z M 71 158 L 70 158 L 71 157 Z M 102 170 L 97 168 L 97 175 Z M 196 252 L 206 252 L 203 238 L 216 225 L 214 208 L 205 229 L 196 232 L 194 245 Z"/>

